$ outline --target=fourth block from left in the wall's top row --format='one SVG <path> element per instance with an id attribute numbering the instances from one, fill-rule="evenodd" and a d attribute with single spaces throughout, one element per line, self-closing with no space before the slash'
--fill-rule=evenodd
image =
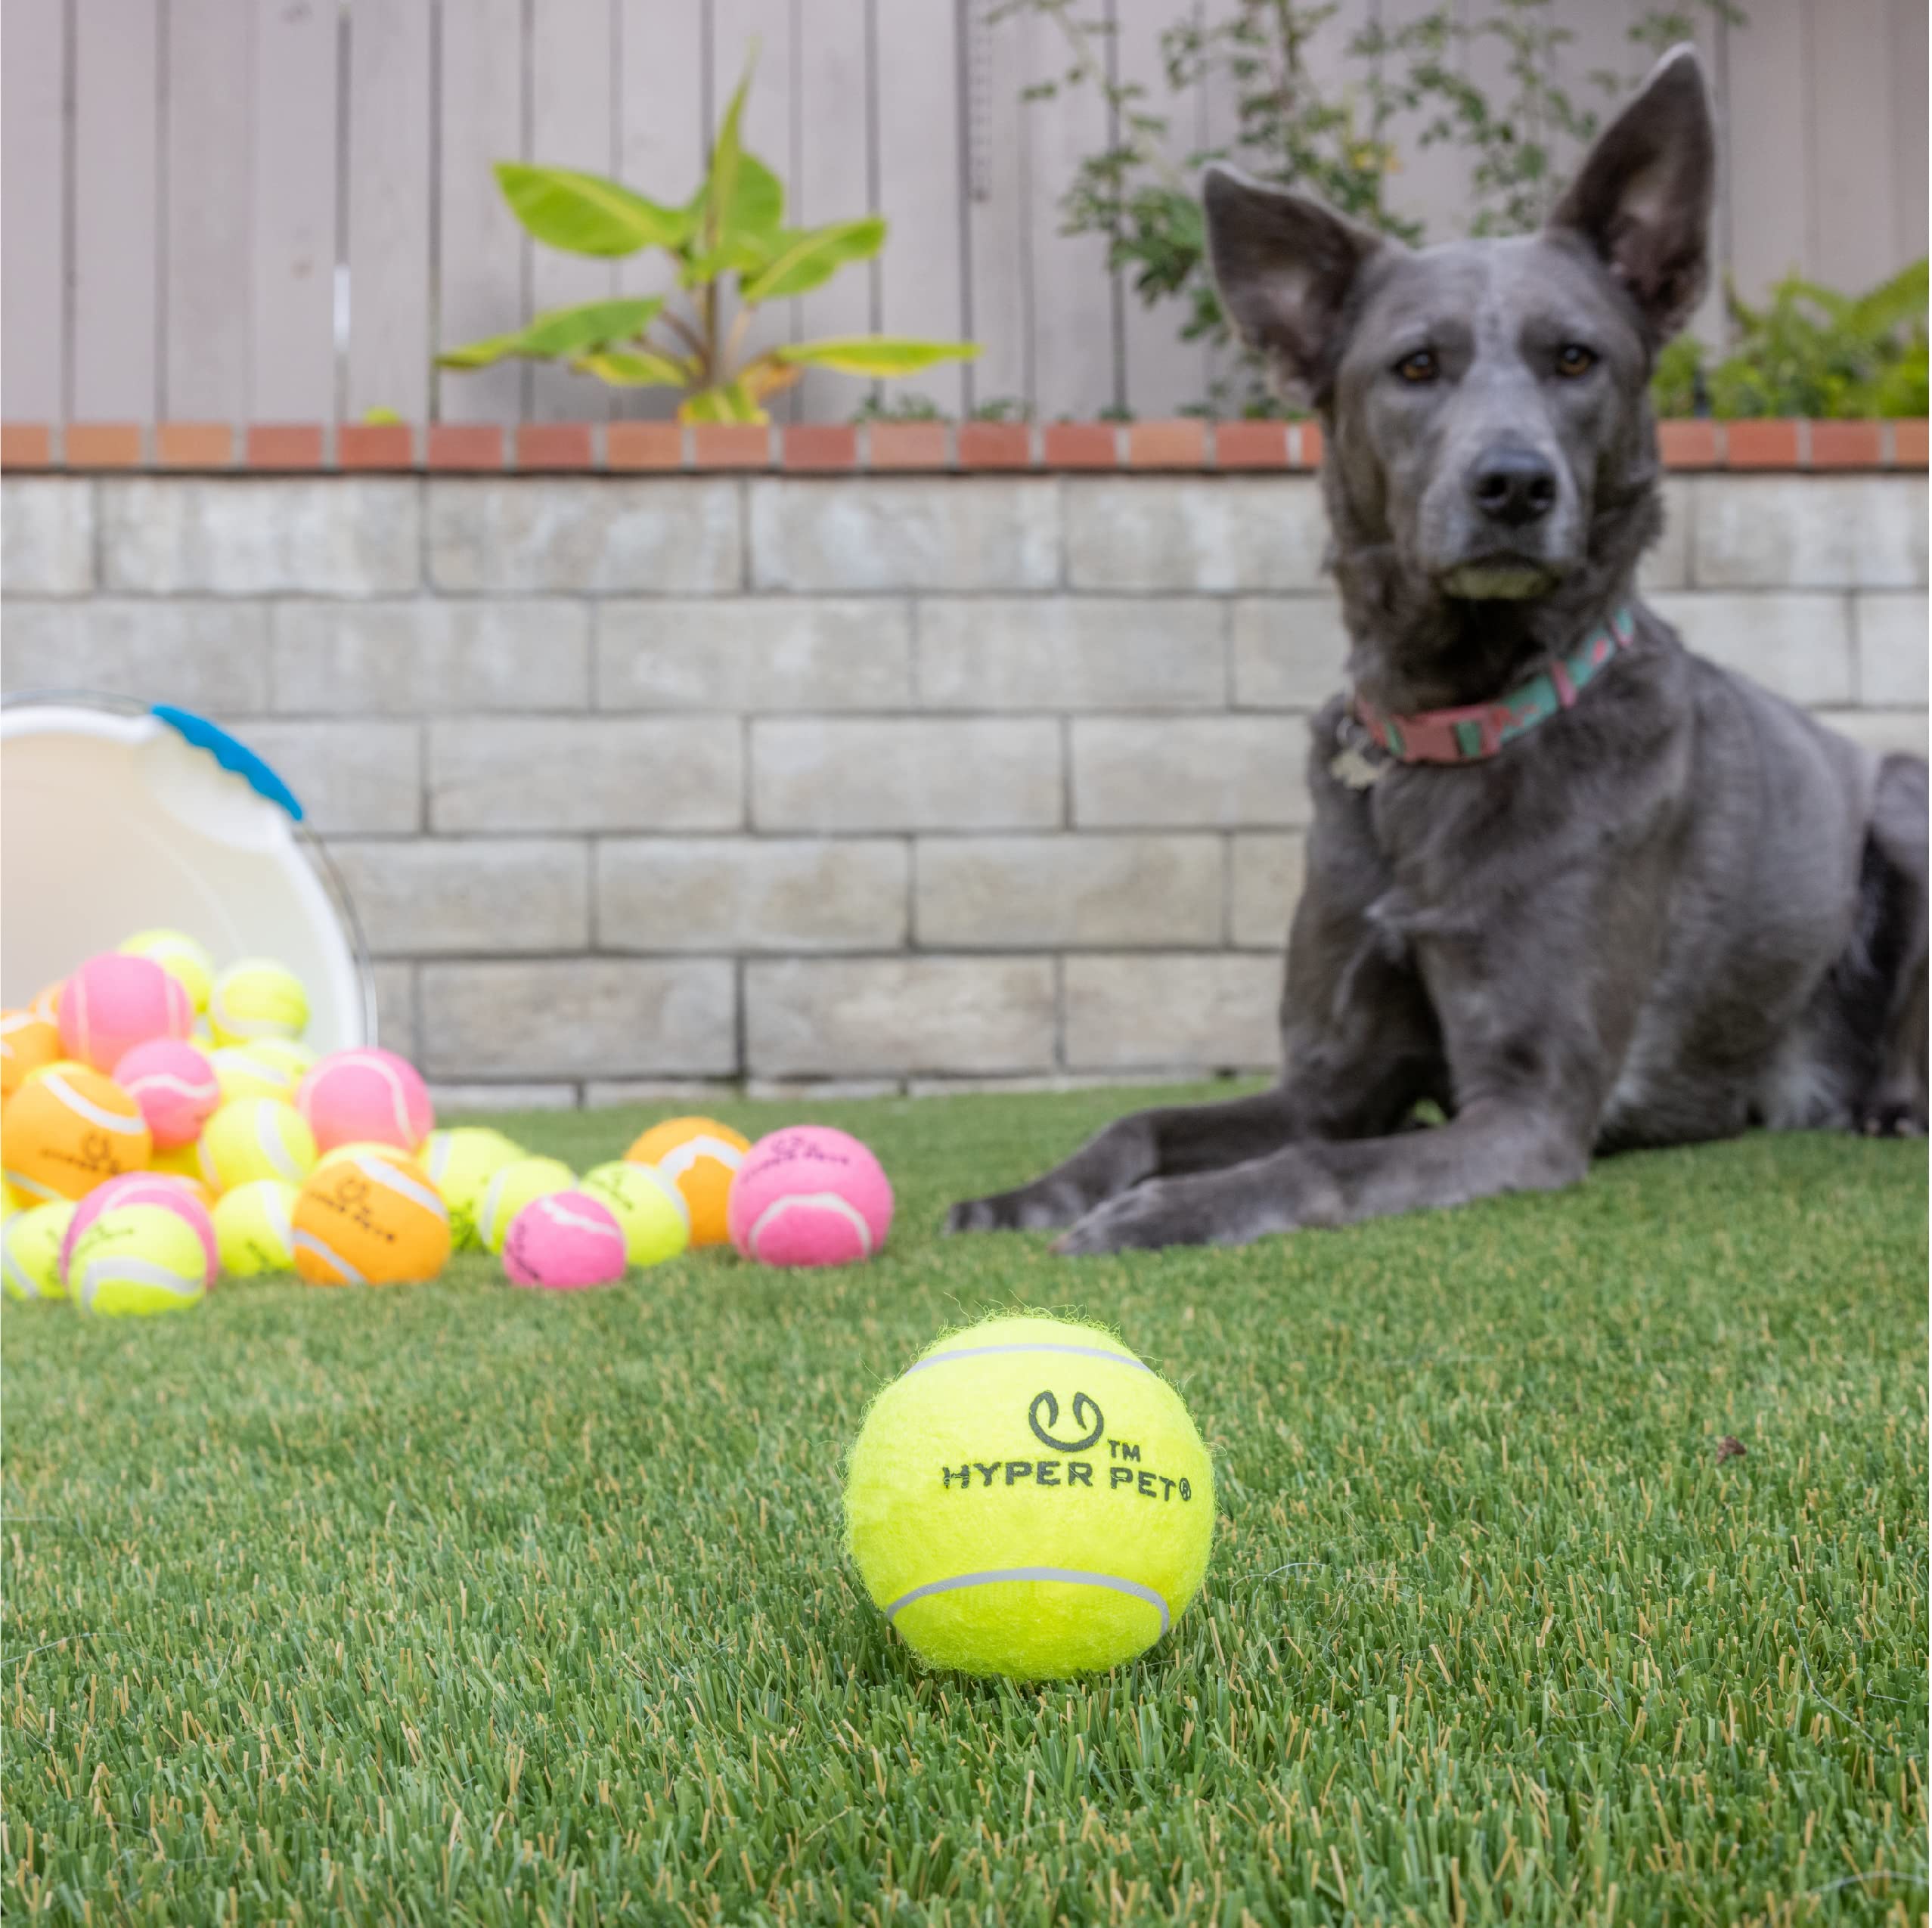
<path id="1" fill-rule="evenodd" d="M 759 479 L 752 587 L 1051 589 L 1061 496 L 1047 477 Z M 1115 587 L 1115 585 L 1107 585 Z"/>

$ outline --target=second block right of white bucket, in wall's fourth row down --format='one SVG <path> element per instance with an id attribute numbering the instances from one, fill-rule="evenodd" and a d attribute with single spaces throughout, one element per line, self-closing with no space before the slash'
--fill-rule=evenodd
<path id="1" fill-rule="evenodd" d="M 611 838 L 597 846 L 605 950 L 896 950 L 896 838 Z"/>

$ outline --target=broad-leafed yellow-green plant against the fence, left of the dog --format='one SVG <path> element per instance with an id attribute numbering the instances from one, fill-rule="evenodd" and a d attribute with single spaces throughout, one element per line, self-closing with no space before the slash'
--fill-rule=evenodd
<path id="1" fill-rule="evenodd" d="M 670 257 L 674 290 L 551 309 L 514 334 L 446 350 L 440 365 L 562 361 L 616 388 L 676 388 L 682 421 L 767 421 L 765 402 L 808 367 L 883 381 L 976 355 L 974 342 L 862 334 L 781 342 L 744 357 L 761 305 L 810 294 L 885 245 L 877 214 L 821 228 L 784 224 L 784 184 L 738 137 L 750 85 L 748 66 L 705 176 L 682 205 L 649 201 L 601 174 L 498 162 L 502 197 L 533 240 L 599 259 L 659 247 Z"/>

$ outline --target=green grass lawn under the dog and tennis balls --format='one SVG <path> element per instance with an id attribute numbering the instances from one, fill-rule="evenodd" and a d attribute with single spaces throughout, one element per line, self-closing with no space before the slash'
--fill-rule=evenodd
<path id="1" fill-rule="evenodd" d="M 8 1916 L 1922 1920 L 1924 1148 L 939 1238 L 1128 1101 L 813 1107 L 898 1186 L 852 1271 L 10 1306 Z M 1012 1304 L 1119 1327 L 1217 1462 L 1202 1598 L 1095 1681 L 923 1673 L 840 1551 L 867 1397 Z"/>

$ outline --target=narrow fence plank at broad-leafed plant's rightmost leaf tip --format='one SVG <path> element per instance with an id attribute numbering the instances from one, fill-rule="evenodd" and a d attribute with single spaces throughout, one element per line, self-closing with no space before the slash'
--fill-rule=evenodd
<path id="1" fill-rule="evenodd" d="M 966 363 L 966 408 L 1026 402 L 1034 392 L 1034 261 L 1028 245 L 1032 110 L 1028 35 L 1018 19 L 987 21 L 987 0 L 966 8 L 966 328 L 980 357 Z M 883 79 L 881 79 L 883 85 Z"/>

